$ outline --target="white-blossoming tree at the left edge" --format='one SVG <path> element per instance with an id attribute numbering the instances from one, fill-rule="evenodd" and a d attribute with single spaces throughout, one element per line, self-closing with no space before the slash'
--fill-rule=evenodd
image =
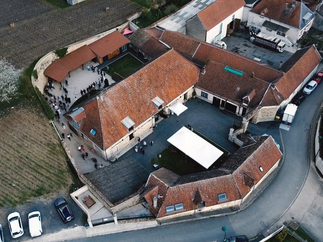
<path id="1" fill-rule="evenodd" d="M 5 58 L 0 57 L 0 102 L 9 102 L 17 96 L 21 70 L 16 69 Z"/>

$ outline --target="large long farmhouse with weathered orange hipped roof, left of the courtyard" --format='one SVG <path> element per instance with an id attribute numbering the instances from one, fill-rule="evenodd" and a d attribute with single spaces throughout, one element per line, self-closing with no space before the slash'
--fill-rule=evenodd
<path id="1" fill-rule="evenodd" d="M 170 111 L 192 97 L 198 68 L 174 49 L 67 114 L 70 127 L 105 159 L 134 147 Z"/>

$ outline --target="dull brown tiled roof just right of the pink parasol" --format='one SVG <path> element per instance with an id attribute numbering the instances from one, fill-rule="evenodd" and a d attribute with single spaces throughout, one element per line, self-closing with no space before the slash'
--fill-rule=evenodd
<path id="1" fill-rule="evenodd" d="M 167 47 L 164 44 L 142 29 L 137 29 L 129 39 L 134 46 L 153 58 L 167 51 Z"/>

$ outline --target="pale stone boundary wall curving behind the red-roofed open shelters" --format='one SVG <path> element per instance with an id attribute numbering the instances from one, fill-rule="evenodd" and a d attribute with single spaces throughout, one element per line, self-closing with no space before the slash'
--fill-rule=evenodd
<path id="1" fill-rule="evenodd" d="M 71 51 L 85 45 L 85 44 L 90 44 L 108 34 L 110 34 L 111 32 L 115 31 L 115 30 L 118 30 L 118 31 L 122 31 L 124 30 L 125 28 L 127 28 L 129 26 L 128 22 L 116 27 L 116 28 L 113 28 L 113 29 L 110 29 L 110 30 L 107 30 L 103 33 L 100 33 L 100 34 L 97 34 L 97 35 L 94 35 L 92 37 L 89 37 L 87 39 L 84 39 L 84 40 L 81 40 L 79 42 L 76 42 L 76 43 L 73 43 L 73 44 L 70 44 L 70 45 L 67 45 L 65 47 L 68 48 L 67 50 L 67 53 L 70 53 Z M 57 59 L 58 57 L 56 56 L 56 54 L 54 53 L 55 50 L 53 51 L 50 51 L 49 53 L 45 54 L 43 57 L 41 57 L 39 59 L 39 61 L 36 63 L 35 67 L 34 67 L 34 70 L 37 71 L 37 74 L 38 74 L 38 79 L 34 79 L 33 76 L 31 76 L 31 83 L 34 87 L 37 87 L 39 89 L 39 91 L 41 93 L 44 93 L 44 87 L 46 86 L 47 84 L 47 77 L 43 74 L 44 73 L 44 70 L 53 62 L 55 61 L 55 59 Z"/>

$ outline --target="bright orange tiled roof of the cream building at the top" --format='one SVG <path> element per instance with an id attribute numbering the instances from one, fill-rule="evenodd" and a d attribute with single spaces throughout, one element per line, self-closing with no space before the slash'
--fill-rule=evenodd
<path id="1" fill-rule="evenodd" d="M 206 30 L 220 24 L 245 5 L 244 0 L 217 0 L 197 14 Z"/>

